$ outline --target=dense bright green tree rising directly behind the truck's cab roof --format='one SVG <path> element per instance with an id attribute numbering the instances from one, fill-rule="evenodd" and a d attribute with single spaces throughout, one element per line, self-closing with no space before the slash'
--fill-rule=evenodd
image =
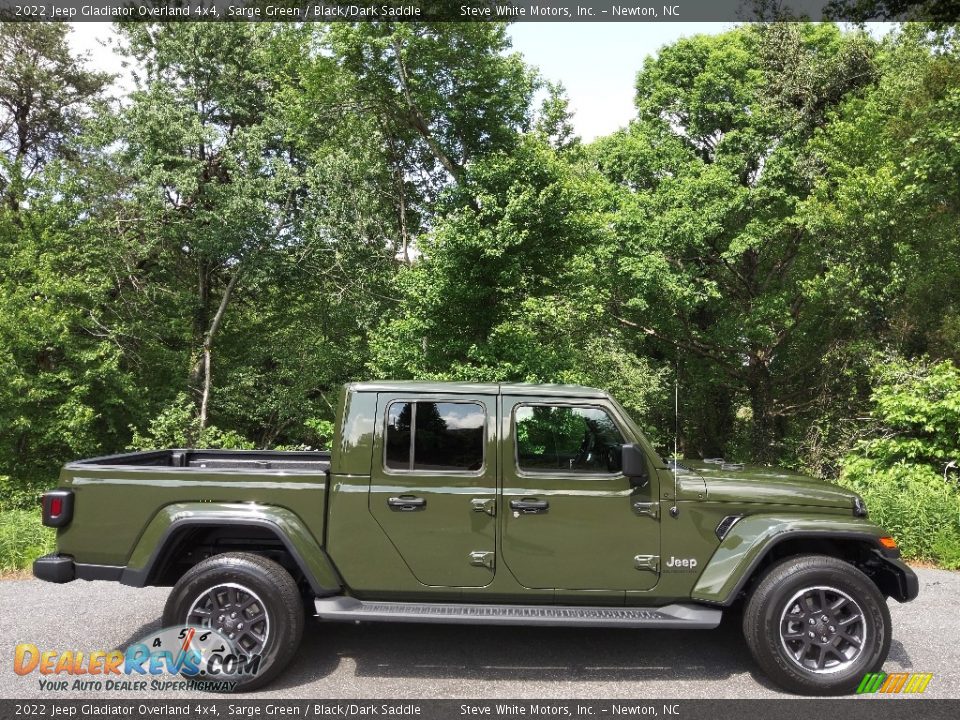
<path id="1" fill-rule="evenodd" d="M 604 317 L 605 187 L 536 133 L 472 163 L 399 276 L 406 312 L 376 335 L 374 372 L 615 386 L 648 410 L 662 377 Z"/>

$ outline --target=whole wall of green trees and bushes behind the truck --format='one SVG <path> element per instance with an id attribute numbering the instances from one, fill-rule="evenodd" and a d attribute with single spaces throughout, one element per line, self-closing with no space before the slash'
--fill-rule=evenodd
<path id="1" fill-rule="evenodd" d="M 371 377 L 600 386 L 666 450 L 676 380 L 683 453 L 960 563 L 956 27 L 686 38 L 589 144 L 501 24 L 123 25 L 123 98 L 67 32 L 0 25 L 0 511 L 323 446 Z"/>

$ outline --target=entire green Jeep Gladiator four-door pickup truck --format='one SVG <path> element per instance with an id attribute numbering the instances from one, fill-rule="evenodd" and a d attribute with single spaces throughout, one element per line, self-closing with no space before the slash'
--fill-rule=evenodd
<path id="1" fill-rule="evenodd" d="M 269 682 L 323 621 L 709 629 L 740 607 L 757 663 L 849 692 L 916 575 L 854 493 L 720 460 L 666 462 L 579 386 L 346 386 L 332 453 L 162 450 L 68 464 L 43 500 L 51 582 L 173 586 Z"/>

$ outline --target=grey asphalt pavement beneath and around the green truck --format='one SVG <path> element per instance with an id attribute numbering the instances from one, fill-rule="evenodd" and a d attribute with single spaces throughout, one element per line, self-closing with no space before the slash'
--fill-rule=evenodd
<path id="1" fill-rule="evenodd" d="M 920 568 L 920 597 L 890 602 L 884 670 L 933 673 L 925 696 L 960 698 L 960 573 Z M 0 580 L 0 698 L 148 698 L 155 693 L 40 689 L 13 671 L 14 648 L 124 648 L 159 628 L 166 588 Z M 765 698 L 783 697 L 754 666 L 728 616 L 716 630 L 611 630 L 309 621 L 287 670 L 250 697 Z M 206 698 L 179 691 L 169 698 Z"/>

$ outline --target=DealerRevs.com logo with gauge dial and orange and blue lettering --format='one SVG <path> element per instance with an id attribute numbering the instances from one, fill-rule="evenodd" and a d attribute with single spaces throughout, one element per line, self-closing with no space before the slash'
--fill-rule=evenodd
<path id="1" fill-rule="evenodd" d="M 21 643 L 14 651 L 13 670 L 21 676 L 40 675 L 40 689 L 54 692 L 187 688 L 229 692 L 256 675 L 260 661 L 259 654 L 243 653 L 215 630 L 184 626 L 148 635 L 126 650 L 41 650 Z"/>

